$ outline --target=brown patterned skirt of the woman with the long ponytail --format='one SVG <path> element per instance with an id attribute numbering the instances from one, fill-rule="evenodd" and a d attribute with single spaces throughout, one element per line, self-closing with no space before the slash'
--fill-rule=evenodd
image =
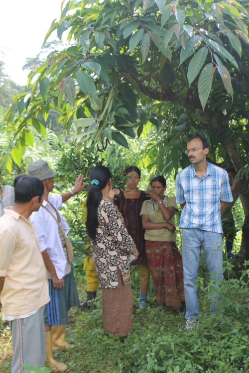
<path id="1" fill-rule="evenodd" d="M 132 290 L 130 282 L 124 285 L 118 270 L 119 287 L 102 288 L 102 323 L 106 332 L 125 337 L 131 333 Z"/>

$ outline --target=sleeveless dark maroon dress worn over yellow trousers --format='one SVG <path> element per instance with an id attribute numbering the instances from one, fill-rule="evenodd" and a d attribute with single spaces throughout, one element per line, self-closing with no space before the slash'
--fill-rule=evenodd
<path id="1" fill-rule="evenodd" d="M 146 199 L 150 199 L 143 190 L 140 190 L 138 198 L 125 198 L 124 194 L 120 194 L 116 198 L 118 209 L 123 215 L 126 229 L 136 244 L 139 255 L 131 265 L 147 264 L 145 253 L 144 229 L 142 228 L 142 219 L 140 214 L 142 204 Z"/>

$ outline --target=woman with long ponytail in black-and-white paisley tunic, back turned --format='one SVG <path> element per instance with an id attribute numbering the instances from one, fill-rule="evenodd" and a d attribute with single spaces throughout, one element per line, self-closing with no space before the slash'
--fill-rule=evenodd
<path id="1" fill-rule="evenodd" d="M 122 217 L 109 200 L 112 176 L 94 167 L 89 178 L 87 232 L 103 294 L 103 329 L 125 337 L 131 332 L 132 291 L 129 256 L 138 255 Z"/>

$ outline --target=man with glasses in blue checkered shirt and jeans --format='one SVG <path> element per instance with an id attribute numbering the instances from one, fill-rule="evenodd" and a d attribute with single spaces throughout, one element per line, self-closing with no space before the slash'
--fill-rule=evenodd
<path id="1" fill-rule="evenodd" d="M 207 141 L 198 135 L 192 136 L 186 150 L 191 165 L 176 176 L 176 203 L 183 208 L 180 228 L 186 331 L 194 327 L 199 317 L 195 280 L 201 247 L 211 279 L 219 281 L 223 278 L 221 213 L 227 203 L 233 201 L 227 172 L 207 162 L 208 153 Z M 217 309 L 216 298 L 213 294 L 210 311 Z"/>

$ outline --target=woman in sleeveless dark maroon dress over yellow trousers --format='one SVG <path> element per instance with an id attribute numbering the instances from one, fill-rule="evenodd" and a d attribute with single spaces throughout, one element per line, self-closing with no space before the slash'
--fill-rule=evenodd
<path id="1" fill-rule="evenodd" d="M 149 268 L 145 253 L 144 229 L 140 211 L 143 201 L 149 199 L 143 190 L 139 190 L 137 185 L 140 181 L 141 173 L 136 166 L 127 166 L 124 170 L 127 176 L 124 193 L 118 195 L 118 209 L 123 215 L 124 223 L 129 235 L 132 237 L 139 252 L 137 260 L 131 265 L 137 265 L 140 281 L 139 307 L 143 309 L 147 301 L 147 290 L 149 286 Z"/>

